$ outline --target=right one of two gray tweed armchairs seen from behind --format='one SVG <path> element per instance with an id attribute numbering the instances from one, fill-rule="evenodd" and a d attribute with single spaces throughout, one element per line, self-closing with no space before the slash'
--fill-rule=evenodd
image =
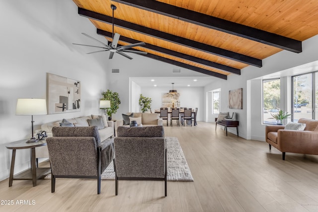
<path id="1" fill-rule="evenodd" d="M 162 126 L 118 127 L 114 139 L 115 193 L 118 180 L 164 180 L 167 196 L 166 147 Z"/>

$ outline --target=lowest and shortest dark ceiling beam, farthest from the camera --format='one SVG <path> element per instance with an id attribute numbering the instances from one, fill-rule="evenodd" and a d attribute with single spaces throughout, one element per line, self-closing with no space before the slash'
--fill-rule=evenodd
<path id="1" fill-rule="evenodd" d="M 195 66 L 191 66 L 191 65 L 188 65 L 188 64 L 184 64 L 184 63 L 181 63 L 181 62 L 178 62 L 178 61 L 174 61 L 174 60 L 170 60 L 170 59 L 167 59 L 167 58 L 163 58 L 163 57 L 160 57 L 158 55 L 153 55 L 153 54 L 147 54 L 147 55 L 142 55 L 144 57 L 147 57 L 147 58 L 151 58 L 151 59 L 155 59 L 155 60 L 158 60 L 158 61 L 161 61 L 161 62 L 164 62 L 164 63 L 168 63 L 168 64 L 171 64 L 171 65 L 174 65 L 174 66 L 178 66 L 178 67 L 182 67 L 182 68 L 185 68 L 185 69 L 189 69 L 189 70 L 192 70 L 192 71 L 197 71 L 197 72 L 200 72 L 200 73 L 205 73 L 207 75 L 210 75 L 210 76 L 215 76 L 215 77 L 218 77 L 218 78 L 221 78 L 221 79 L 228 79 L 228 76 L 225 75 L 225 74 L 221 74 L 221 73 L 217 73 L 217 72 L 213 72 L 213 71 L 208 71 L 208 70 L 205 70 L 205 69 L 201 69 L 201 68 L 198 68 L 198 67 L 195 67 Z"/>

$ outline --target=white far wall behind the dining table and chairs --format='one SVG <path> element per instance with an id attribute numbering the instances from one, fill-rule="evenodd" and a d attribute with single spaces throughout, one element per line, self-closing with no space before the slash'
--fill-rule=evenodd
<path id="1" fill-rule="evenodd" d="M 141 92 L 144 96 L 150 97 L 152 111 L 162 107 L 162 94 L 169 92 L 171 87 L 142 87 Z M 179 107 L 198 108 L 197 121 L 204 120 L 204 88 L 203 87 L 175 87 L 180 93 Z"/>

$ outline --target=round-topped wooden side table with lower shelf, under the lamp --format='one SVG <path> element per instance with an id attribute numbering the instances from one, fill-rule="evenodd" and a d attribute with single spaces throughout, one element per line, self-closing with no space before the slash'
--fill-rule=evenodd
<path id="1" fill-rule="evenodd" d="M 33 186 L 36 186 L 36 180 L 42 178 L 51 172 L 50 167 L 37 168 L 35 162 L 35 147 L 46 145 L 46 141 L 37 141 L 33 143 L 26 143 L 26 140 L 15 141 L 8 143 L 5 147 L 12 149 L 12 159 L 11 159 L 11 168 L 10 168 L 10 177 L 9 177 L 9 187 L 12 186 L 13 180 L 32 180 Z M 13 176 L 14 172 L 14 162 L 15 162 L 15 151 L 16 149 L 31 149 L 31 168 L 16 174 Z"/>

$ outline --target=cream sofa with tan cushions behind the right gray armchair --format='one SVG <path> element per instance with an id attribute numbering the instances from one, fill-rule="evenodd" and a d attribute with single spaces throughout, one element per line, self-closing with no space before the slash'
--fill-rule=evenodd
<path id="1" fill-rule="evenodd" d="M 126 113 L 126 115 L 131 115 L 132 113 Z M 162 126 L 162 119 L 159 116 L 159 113 L 134 113 L 132 118 L 141 118 L 141 123 L 138 123 L 140 119 L 137 121 L 137 123 L 140 125 L 142 124 L 143 127 L 149 127 L 149 126 Z M 124 125 L 124 120 L 120 119 L 115 122 L 115 136 L 117 135 L 117 128 L 119 126 L 124 127 L 130 127 L 128 125 Z M 141 125 L 140 125 L 141 126 Z"/>

